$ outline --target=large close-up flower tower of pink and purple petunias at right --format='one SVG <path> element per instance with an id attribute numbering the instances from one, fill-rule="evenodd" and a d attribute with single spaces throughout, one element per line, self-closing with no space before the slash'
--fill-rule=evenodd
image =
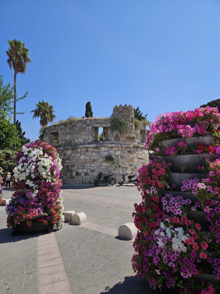
<path id="1" fill-rule="evenodd" d="M 219 126 L 211 107 L 165 113 L 150 126 L 152 161 L 139 170 L 132 265 L 153 289 L 218 293 Z"/>

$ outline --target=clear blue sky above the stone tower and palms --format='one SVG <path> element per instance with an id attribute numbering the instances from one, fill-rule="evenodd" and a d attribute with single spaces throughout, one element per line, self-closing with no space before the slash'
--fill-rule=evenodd
<path id="1" fill-rule="evenodd" d="M 57 119 L 110 116 L 114 105 L 140 106 L 154 121 L 220 98 L 219 0 L 1 0 L 0 74 L 13 83 L 7 40 L 30 49 L 17 76 L 17 118 L 29 138 L 44 99 Z"/>

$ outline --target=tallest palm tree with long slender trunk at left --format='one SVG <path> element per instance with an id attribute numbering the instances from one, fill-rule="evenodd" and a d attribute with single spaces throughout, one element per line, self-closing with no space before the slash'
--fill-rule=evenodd
<path id="1" fill-rule="evenodd" d="M 24 74 L 27 68 L 27 64 L 31 63 L 31 59 L 28 55 L 29 49 L 25 47 L 25 44 L 16 39 L 8 41 L 9 50 L 6 54 L 9 59 L 7 63 L 10 69 L 14 69 L 14 125 L 16 125 L 16 76 L 18 73 Z M 15 144 L 13 150 L 15 150 Z"/>

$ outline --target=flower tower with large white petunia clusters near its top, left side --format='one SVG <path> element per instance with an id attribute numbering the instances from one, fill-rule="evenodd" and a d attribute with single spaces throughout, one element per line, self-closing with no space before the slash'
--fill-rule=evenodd
<path id="1" fill-rule="evenodd" d="M 24 145 L 16 158 L 13 196 L 6 207 L 7 226 L 15 232 L 61 228 L 60 158 L 48 143 Z"/>

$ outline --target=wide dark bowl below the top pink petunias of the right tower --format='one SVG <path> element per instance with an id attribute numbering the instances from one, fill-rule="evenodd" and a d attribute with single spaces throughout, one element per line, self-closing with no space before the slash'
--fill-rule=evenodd
<path id="1" fill-rule="evenodd" d="M 192 152 L 192 149 L 195 149 L 199 144 L 204 144 L 206 147 L 211 145 L 215 141 L 215 137 L 213 136 L 199 136 L 199 137 L 191 137 L 191 138 L 175 138 L 170 140 L 161 141 L 163 146 L 172 147 L 178 146 L 178 143 L 184 142 L 187 144 L 187 152 Z"/>

